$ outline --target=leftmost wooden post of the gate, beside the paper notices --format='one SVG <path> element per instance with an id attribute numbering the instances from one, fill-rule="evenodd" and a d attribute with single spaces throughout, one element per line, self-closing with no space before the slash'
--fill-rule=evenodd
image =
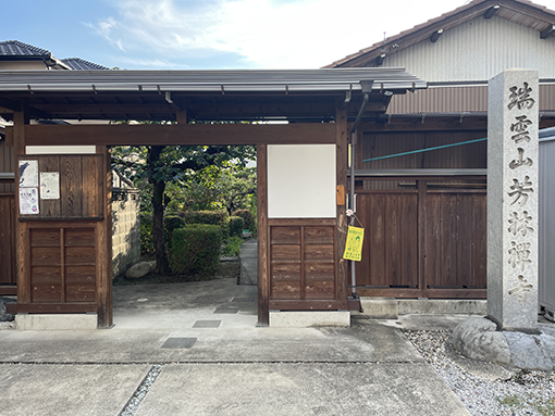
<path id="1" fill-rule="evenodd" d="M 26 243 L 27 223 L 20 222 L 20 175 L 17 155 L 25 154 L 25 125 L 28 116 L 25 111 L 13 113 L 13 146 L 15 175 L 15 274 L 17 281 L 17 303 L 30 303 L 30 279 L 28 276 L 28 244 Z"/>

